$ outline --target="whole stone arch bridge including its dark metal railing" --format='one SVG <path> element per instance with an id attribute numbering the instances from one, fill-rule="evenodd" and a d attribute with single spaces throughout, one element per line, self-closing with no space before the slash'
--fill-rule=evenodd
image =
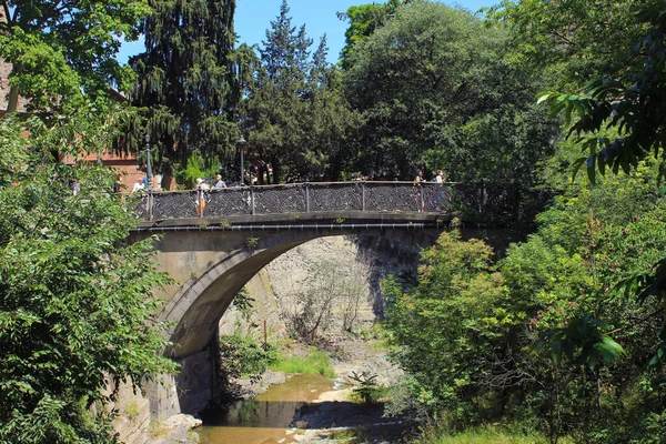
<path id="1" fill-rule="evenodd" d="M 219 392 L 218 323 L 263 266 L 310 240 L 341 234 L 431 245 L 454 216 L 506 222 L 519 196 L 493 186 L 412 182 L 296 183 L 150 192 L 131 238 L 160 234 L 157 265 L 176 282 L 158 296 L 171 323 L 165 354 L 181 372 L 149 389 L 151 413 L 195 412 Z"/>

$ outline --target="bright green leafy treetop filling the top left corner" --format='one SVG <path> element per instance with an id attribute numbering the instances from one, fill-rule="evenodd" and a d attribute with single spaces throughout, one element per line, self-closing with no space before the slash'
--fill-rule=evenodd
<path id="1" fill-rule="evenodd" d="M 19 94 L 34 110 L 75 109 L 82 93 L 108 97 L 131 74 L 114 59 L 121 38 L 135 40 L 147 0 L 6 0 L 0 16 L 0 57 L 12 64 L 8 111 Z"/>

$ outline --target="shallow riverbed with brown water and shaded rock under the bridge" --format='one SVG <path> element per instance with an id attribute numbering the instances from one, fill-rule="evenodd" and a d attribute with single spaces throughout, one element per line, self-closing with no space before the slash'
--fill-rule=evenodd
<path id="1" fill-rule="evenodd" d="M 356 442 L 402 443 L 407 425 L 384 417 L 384 405 L 351 402 L 353 389 L 321 376 L 301 374 L 272 385 L 254 400 L 202 417 L 201 444 L 330 443 L 332 437 Z"/>

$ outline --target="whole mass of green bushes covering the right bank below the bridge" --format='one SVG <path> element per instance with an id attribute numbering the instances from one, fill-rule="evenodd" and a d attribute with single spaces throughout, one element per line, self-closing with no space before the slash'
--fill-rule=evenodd
<path id="1" fill-rule="evenodd" d="M 412 400 L 450 430 L 509 417 L 551 442 L 632 442 L 647 426 L 658 435 L 663 305 L 617 286 L 666 249 L 654 168 L 572 184 L 498 273 L 487 251 L 445 235 L 424 252 L 416 287 L 384 281 Z M 491 276 L 495 285 L 482 284 Z M 392 410 L 418 412 L 393 397 Z"/>

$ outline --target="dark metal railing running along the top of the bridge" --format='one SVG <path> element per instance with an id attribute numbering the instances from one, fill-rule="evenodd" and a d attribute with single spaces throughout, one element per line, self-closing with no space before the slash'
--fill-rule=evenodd
<path id="1" fill-rule="evenodd" d="M 213 190 L 148 192 L 137 208 L 148 221 L 309 212 L 425 212 L 514 214 L 519 193 L 512 189 L 463 183 L 313 182 Z"/>

